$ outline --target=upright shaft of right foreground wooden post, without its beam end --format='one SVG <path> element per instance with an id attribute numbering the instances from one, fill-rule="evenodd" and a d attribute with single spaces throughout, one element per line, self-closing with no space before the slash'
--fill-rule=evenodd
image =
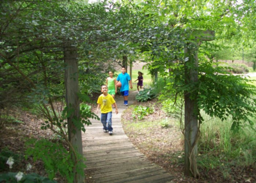
<path id="1" fill-rule="evenodd" d="M 198 81 L 198 57 L 196 48 L 187 45 L 185 48 L 185 83 L 195 83 Z M 193 95 L 193 99 L 191 99 Z M 185 175 L 199 177 L 196 156 L 198 154 L 198 118 L 195 92 L 184 93 L 185 99 Z"/>

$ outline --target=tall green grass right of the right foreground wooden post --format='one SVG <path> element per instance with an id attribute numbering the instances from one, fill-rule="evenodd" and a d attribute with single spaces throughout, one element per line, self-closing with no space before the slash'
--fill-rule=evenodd
<path id="1" fill-rule="evenodd" d="M 199 166 L 207 170 L 221 167 L 228 170 L 229 166 L 255 166 L 256 134 L 252 128 L 244 125 L 243 131 L 235 133 L 230 131 L 231 118 L 222 122 L 205 114 L 202 117 L 205 122 L 200 128 L 198 150 L 204 155 L 198 156 Z"/>

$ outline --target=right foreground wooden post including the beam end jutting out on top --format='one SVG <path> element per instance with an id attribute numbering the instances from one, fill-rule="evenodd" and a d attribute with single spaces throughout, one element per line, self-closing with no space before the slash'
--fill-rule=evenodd
<path id="1" fill-rule="evenodd" d="M 189 35 L 189 42 L 184 49 L 185 83 L 193 84 L 198 82 L 198 43 L 202 40 L 209 41 L 214 39 L 214 31 L 193 31 Z M 196 106 L 197 90 L 184 93 L 185 100 L 185 171 L 187 176 L 199 177 L 197 170 L 196 156 L 198 154 L 198 113 Z M 193 96 L 193 98 L 191 98 Z"/>

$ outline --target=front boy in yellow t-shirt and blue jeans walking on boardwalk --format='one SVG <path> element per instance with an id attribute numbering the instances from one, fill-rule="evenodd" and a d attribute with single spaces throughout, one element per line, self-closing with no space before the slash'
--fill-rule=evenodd
<path id="1" fill-rule="evenodd" d="M 103 125 L 103 132 L 109 132 L 109 135 L 113 134 L 112 128 L 112 104 L 115 106 L 116 115 L 118 114 L 118 109 L 115 99 L 108 94 L 108 86 L 105 84 L 101 86 L 102 94 L 97 100 L 97 113 L 100 108 L 100 121 Z"/>

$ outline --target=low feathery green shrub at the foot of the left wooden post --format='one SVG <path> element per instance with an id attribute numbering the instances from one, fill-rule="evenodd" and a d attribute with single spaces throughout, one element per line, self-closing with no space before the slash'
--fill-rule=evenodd
<path id="1" fill-rule="evenodd" d="M 45 171 L 51 180 L 54 179 L 56 173 L 60 173 L 61 176 L 67 179 L 67 182 L 73 182 L 75 177 L 73 169 L 76 168 L 77 171 L 83 171 L 86 167 L 84 157 L 77 157 L 79 161 L 75 164 L 72 160 L 71 153 L 68 152 L 61 143 L 53 143 L 46 139 L 38 141 L 31 139 L 26 143 L 26 146 L 28 147 L 26 150 L 26 158 L 31 155 L 34 161 L 42 160 L 44 162 Z M 77 153 L 76 155 L 79 154 Z"/>

